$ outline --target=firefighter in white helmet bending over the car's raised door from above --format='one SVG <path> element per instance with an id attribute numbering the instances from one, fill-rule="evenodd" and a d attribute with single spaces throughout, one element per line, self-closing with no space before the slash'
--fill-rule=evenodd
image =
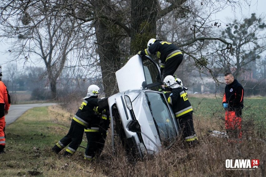
<path id="1" fill-rule="evenodd" d="M 148 41 L 148 48 L 138 52 L 138 55 L 157 54 L 160 59 L 160 71 L 163 79 L 167 75 L 173 75 L 183 60 L 181 50 L 170 42 L 150 39 Z M 157 76 L 158 79 L 158 76 Z"/>

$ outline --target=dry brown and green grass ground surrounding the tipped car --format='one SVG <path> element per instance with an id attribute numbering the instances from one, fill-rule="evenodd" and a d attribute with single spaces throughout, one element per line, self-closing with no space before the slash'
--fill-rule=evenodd
<path id="1" fill-rule="evenodd" d="M 110 136 L 95 161 L 83 159 L 79 148 L 70 158 L 51 152 L 67 132 L 75 109 L 52 106 L 33 108 L 6 127 L 6 153 L 0 155 L 1 176 L 264 176 L 266 160 L 266 98 L 245 98 L 242 143 L 208 135 L 209 129 L 224 130 L 222 98 L 189 97 L 199 145 L 187 147 L 178 140 L 150 160 L 127 160 L 124 151 L 111 155 Z M 71 105 L 68 105 L 71 107 Z M 258 137 L 264 141 L 260 141 Z M 82 142 L 86 146 L 86 140 Z M 256 170 L 226 170 L 226 159 L 259 159 Z"/>

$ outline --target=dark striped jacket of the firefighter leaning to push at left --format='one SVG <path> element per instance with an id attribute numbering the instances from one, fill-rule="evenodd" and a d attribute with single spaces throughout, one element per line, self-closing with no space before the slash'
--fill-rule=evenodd
<path id="1" fill-rule="evenodd" d="M 83 127 L 90 127 L 95 117 L 97 117 L 98 100 L 99 98 L 96 96 L 84 99 L 73 120 Z"/>

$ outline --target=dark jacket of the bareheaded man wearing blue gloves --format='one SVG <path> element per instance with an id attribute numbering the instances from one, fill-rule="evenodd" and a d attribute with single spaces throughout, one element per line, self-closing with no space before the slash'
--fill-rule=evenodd
<path id="1" fill-rule="evenodd" d="M 244 108 L 244 89 L 236 79 L 232 84 L 225 86 L 223 103 L 228 103 L 229 111 Z"/>

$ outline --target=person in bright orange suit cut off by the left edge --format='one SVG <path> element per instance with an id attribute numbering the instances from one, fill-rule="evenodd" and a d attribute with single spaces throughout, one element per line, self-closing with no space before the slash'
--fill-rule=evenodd
<path id="1" fill-rule="evenodd" d="M 0 65 L 0 154 L 5 153 L 4 148 L 6 145 L 5 139 L 5 115 L 8 114 L 8 110 L 10 107 L 10 95 L 7 91 L 6 85 L 2 82 L 2 72 Z"/>

